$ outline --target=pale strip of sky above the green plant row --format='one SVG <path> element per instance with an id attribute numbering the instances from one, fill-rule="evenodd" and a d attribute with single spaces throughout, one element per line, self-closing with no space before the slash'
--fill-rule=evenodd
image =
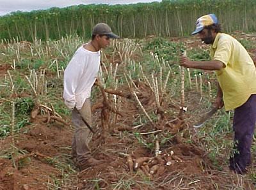
<path id="1" fill-rule="evenodd" d="M 0 0 L 0 15 L 12 11 L 44 10 L 51 7 L 66 7 L 74 4 L 129 4 L 148 3 L 161 0 Z"/>

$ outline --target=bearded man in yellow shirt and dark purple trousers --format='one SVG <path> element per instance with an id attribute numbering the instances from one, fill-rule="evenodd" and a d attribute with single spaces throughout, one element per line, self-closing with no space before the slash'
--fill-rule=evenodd
<path id="1" fill-rule="evenodd" d="M 256 69 L 246 49 L 235 38 L 221 33 L 214 14 L 197 19 L 197 34 L 204 43 L 211 45 L 211 61 L 190 61 L 180 57 L 180 65 L 216 71 L 218 92 L 216 106 L 235 110 L 233 129 L 234 146 L 238 151 L 230 157 L 230 169 L 237 173 L 246 172 L 251 163 L 251 145 L 256 122 Z"/>

